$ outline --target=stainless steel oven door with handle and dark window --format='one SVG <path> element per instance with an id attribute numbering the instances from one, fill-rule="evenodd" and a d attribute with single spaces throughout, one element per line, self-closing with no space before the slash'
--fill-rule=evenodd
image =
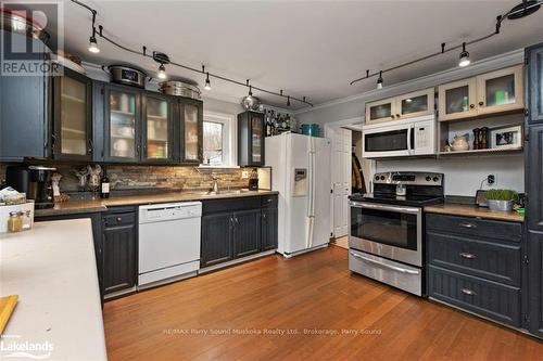
<path id="1" fill-rule="evenodd" d="M 422 209 L 350 202 L 349 247 L 422 267 Z"/>

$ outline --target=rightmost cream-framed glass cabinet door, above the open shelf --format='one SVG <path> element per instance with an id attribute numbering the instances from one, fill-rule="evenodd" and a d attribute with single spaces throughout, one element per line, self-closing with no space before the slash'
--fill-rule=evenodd
<path id="1" fill-rule="evenodd" d="M 523 90 L 522 65 L 478 76 L 478 114 L 523 108 Z"/>

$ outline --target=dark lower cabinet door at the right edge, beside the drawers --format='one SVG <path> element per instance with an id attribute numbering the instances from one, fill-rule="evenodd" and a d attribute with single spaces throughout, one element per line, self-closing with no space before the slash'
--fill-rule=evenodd
<path id="1" fill-rule="evenodd" d="M 530 332 L 543 337 L 543 233 L 528 232 Z"/>

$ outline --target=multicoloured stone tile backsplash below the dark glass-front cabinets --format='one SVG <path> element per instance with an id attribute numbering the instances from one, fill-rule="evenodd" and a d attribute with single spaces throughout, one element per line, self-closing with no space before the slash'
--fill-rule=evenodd
<path id="1" fill-rule="evenodd" d="M 75 175 L 85 165 L 55 165 L 62 175 L 61 191 L 77 192 L 78 180 Z M 198 168 L 186 166 L 106 166 L 112 191 L 128 190 L 210 190 L 213 185 L 212 173 L 218 179 L 219 189 L 239 189 L 249 185 L 242 179 L 243 170 L 251 168 Z M 5 179 L 5 164 L 0 164 L 0 182 Z"/>

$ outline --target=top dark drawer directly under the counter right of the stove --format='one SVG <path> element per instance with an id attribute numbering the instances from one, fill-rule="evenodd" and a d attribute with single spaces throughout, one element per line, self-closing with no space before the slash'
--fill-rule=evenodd
<path id="1" fill-rule="evenodd" d="M 470 217 L 428 214 L 426 216 L 426 229 L 435 230 L 440 233 L 453 232 L 509 242 L 520 242 L 522 237 L 521 223 Z"/>

